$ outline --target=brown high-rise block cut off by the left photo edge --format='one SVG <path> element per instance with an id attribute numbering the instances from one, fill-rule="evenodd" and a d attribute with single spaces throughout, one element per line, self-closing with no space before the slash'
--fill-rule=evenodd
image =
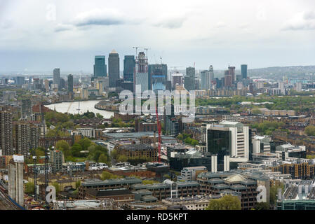
<path id="1" fill-rule="evenodd" d="M 12 113 L 0 111 L 0 150 L 2 155 L 13 155 Z"/>

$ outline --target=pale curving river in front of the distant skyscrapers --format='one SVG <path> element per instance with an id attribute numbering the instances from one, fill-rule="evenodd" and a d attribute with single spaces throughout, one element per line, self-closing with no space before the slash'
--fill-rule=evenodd
<path id="1" fill-rule="evenodd" d="M 81 101 L 80 102 L 80 114 L 85 113 L 86 111 L 90 111 L 93 113 L 100 113 L 104 118 L 110 118 L 111 116 L 114 116 L 114 112 L 110 111 L 102 111 L 95 109 L 94 106 L 100 102 L 100 100 L 88 100 L 88 101 Z M 59 104 L 49 104 L 45 105 L 49 109 L 53 110 L 56 109 L 56 111 L 61 112 L 61 113 L 78 113 L 79 109 L 79 102 L 63 102 Z"/>

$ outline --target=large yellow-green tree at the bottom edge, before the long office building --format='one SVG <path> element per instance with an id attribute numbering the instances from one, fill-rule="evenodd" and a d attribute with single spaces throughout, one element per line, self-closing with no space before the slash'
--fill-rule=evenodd
<path id="1" fill-rule="evenodd" d="M 224 195 L 220 199 L 210 200 L 206 210 L 241 210 L 239 197 Z"/>

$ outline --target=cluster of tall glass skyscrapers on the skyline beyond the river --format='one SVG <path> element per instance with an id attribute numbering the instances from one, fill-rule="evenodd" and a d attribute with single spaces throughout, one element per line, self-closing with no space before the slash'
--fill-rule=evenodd
<path id="1" fill-rule="evenodd" d="M 108 75 L 108 76 L 107 76 Z M 224 71 L 224 77 L 215 78 L 213 66 L 208 70 L 196 74 L 194 66 L 186 68 L 186 73 L 178 71 L 168 73 L 167 64 L 149 64 L 145 52 L 138 55 L 125 55 L 123 59 L 123 76 L 119 72 L 119 54 L 112 50 L 108 57 L 108 73 L 105 55 L 95 56 L 93 79 L 108 78 L 106 83 L 112 90 L 130 90 L 135 92 L 135 86 L 141 85 L 145 90 L 175 90 L 177 85 L 186 90 L 236 90 L 238 87 L 248 85 L 247 64 L 241 65 L 241 75 L 235 73 L 235 66 L 229 66 Z M 106 85 L 105 85 L 106 86 Z"/>

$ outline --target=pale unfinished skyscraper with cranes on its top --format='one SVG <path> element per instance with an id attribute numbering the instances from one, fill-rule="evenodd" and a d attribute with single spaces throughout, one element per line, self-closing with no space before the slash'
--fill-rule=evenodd
<path id="1" fill-rule="evenodd" d="M 138 57 L 135 57 L 135 76 L 133 78 L 134 87 L 135 85 L 141 85 L 141 92 L 149 90 L 149 73 L 148 73 L 148 64 L 147 57 L 145 52 L 139 52 Z"/>

